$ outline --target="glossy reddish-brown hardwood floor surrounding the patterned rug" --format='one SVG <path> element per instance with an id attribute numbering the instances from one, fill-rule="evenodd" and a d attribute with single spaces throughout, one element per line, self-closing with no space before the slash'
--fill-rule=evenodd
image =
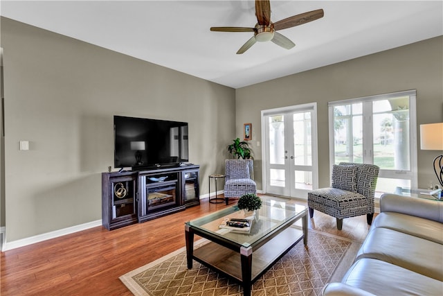
<path id="1" fill-rule="evenodd" d="M 291 202 L 306 204 L 305 200 Z M 236 203 L 231 200 L 228 207 Z M 1 252 L 0 294 L 132 295 L 120 275 L 183 247 L 186 221 L 225 207 L 204 199 L 186 211 L 111 232 L 94 227 Z M 308 220 L 309 229 L 356 241 L 368 234 L 365 216 L 345 219 L 342 231 L 336 229 L 335 218 L 318 211 Z"/>

